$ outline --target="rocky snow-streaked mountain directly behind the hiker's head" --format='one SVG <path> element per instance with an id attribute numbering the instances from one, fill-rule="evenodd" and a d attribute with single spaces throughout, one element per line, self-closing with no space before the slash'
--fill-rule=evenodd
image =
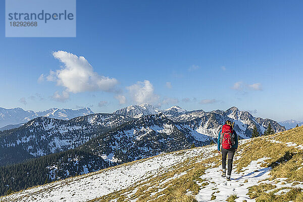
<path id="1" fill-rule="evenodd" d="M 180 110 L 179 110 L 180 111 Z M 164 113 L 166 110 L 164 110 Z M 190 127 L 192 130 L 217 138 L 221 126 L 226 120 L 235 122 L 234 129 L 241 138 L 249 138 L 252 129 L 257 126 L 260 134 L 263 134 L 269 123 L 275 132 L 284 131 L 285 128 L 271 119 L 262 119 L 253 117 L 248 112 L 240 111 L 236 107 L 232 107 L 226 111 L 216 110 L 205 112 L 203 110 L 183 111 L 177 116 L 170 116 L 172 120 L 180 126 Z"/>

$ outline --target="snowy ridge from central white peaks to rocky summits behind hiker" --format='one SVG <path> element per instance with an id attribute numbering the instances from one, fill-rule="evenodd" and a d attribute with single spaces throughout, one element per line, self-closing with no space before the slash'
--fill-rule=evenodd
<path id="1" fill-rule="evenodd" d="M 149 108 L 156 109 L 155 107 Z M 235 122 L 234 129 L 241 138 L 251 137 L 252 129 L 255 125 L 257 126 L 260 134 L 264 134 L 269 123 L 275 132 L 285 130 L 285 128 L 279 125 L 276 121 L 256 118 L 248 112 L 240 111 L 236 107 L 232 107 L 226 111 L 216 110 L 205 112 L 203 110 L 186 111 L 178 106 L 173 106 L 165 110 L 157 109 L 153 111 L 149 111 L 141 106 L 129 106 L 115 112 L 115 114 L 128 115 L 134 118 L 156 113 L 165 114 L 166 117 L 176 122 L 179 127 L 183 128 L 183 130 L 187 128 L 191 131 L 195 131 L 197 134 L 204 134 L 213 138 L 217 138 L 220 128 L 226 120 Z"/>

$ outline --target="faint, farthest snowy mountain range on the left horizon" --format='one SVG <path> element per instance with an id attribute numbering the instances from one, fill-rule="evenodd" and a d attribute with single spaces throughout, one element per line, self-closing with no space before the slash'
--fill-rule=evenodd
<path id="1" fill-rule="evenodd" d="M 0 108 L 0 127 L 26 123 L 37 117 L 49 117 L 62 120 L 70 120 L 75 117 L 85 116 L 89 114 L 93 114 L 93 112 L 89 108 L 82 108 L 79 110 L 53 108 L 45 110 L 43 112 L 34 112 L 31 110 L 25 111 L 22 108 Z M 8 128 L 10 127 L 8 126 Z"/>

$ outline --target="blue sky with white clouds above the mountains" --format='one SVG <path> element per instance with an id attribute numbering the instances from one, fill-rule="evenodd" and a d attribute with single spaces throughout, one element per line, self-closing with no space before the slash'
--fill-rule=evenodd
<path id="1" fill-rule="evenodd" d="M 3 18 L 0 107 L 97 113 L 141 102 L 205 111 L 236 106 L 302 121 L 302 6 L 77 1 L 75 38 L 6 38 Z M 77 82 L 83 74 L 70 78 L 78 70 L 87 82 Z"/>

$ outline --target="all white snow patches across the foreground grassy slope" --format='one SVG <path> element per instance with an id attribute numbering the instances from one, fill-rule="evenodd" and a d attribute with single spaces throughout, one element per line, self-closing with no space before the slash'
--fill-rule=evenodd
<path id="1" fill-rule="evenodd" d="M 252 139 L 240 140 L 239 145 L 247 143 L 251 140 Z M 273 139 L 266 140 L 271 141 Z M 275 141 L 275 143 L 282 142 Z M 293 142 L 287 142 L 286 145 L 296 146 L 296 144 Z M 220 158 L 218 153 L 213 152 L 216 149 L 217 144 L 214 144 L 205 147 L 176 151 L 169 154 L 162 154 L 156 157 L 131 162 L 129 164 L 124 164 L 94 173 L 89 173 L 86 175 L 68 178 L 50 184 L 30 188 L 9 196 L 0 197 L 0 201 L 88 201 L 97 197 L 101 197 L 103 195 L 110 194 L 114 191 L 128 188 L 132 185 L 135 185 L 136 183 L 139 183 L 139 181 L 146 182 L 148 179 L 150 179 L 150 177 L 156 177 L 170 172 L 174 169 L 173 166 L 184 162 L 186 159 L 201 156 L 195 160 L 195 162 L 198 163 L 214 156 Z M 234 161 L 238 158 L 241 158 L 241 155 L 241 150 L 237 151 Z M 111 155 L 104 155 L 103 157 L 110 160 Z M 206 165 L 210 167 L 205 171 L 205 174 L 200 176 L 200 178 L 204 181 L 196 181 L 201 189 L 199 190 L 198 194 L 195 195 L 195 198 L 199 202 L 210 201 L 213 195 L 216 196 L 216 199 L 213 201 L 225 201 L 228 195 L 236 194 L 238 198 L 235 201 L 239 202 L 246 200 L 249 202 L 255 201 L 255 199 L 250 199 L 247 195 L 248 187 L 258 185 L 260 183 L 275 184 L 277 186 L 275 189 L 282 187 L 303 188 L 303 184 L 301 183 L 288 183 L 286 179 L 282 178 L 269 181 L 267 178 L 270 177 L 270 168 L 261 167 L 261 165 L 267 159 L 269 158 L 263 157 L 256 161 L 251 161 L 250 164 L 247 167 L 243 168 L 240 173 L 234 172 L 236 170 L 236 165 L 234 165 L 233 172 L 231 174 L 231 181 L 226 181 L 226 178 L 221 177 L 221 166 L 213 167 L 215 165 L 214 163 Z M 157 185 L 159 186 L 159 189 L 150 195 L 159 194 L 166 189 L 166 187 L 162 187 L 162 185 L 185 175 L 188 171 L 189 170 L 182 173 L 177 173 L 170 178 L 163 179 L 163 181 L 160 181 Z M 279 183 L 277 183 L 276 180 L 279 180 Z M 206 182 L 208 184 L 206 184 Z M 287 191 L 287 188 L 285 188 L 279 190 L 276 194 L 283 194 Z M 135 192 L 136 188 L 130 190 L 126 196 L 131 196 Z M 191 193 L 188 192 L 187 194 Z M 160 196 L 161 195 L 158 197 Z M 129 201 L 136 201 L 136 199 L 132 198 Z"/>

